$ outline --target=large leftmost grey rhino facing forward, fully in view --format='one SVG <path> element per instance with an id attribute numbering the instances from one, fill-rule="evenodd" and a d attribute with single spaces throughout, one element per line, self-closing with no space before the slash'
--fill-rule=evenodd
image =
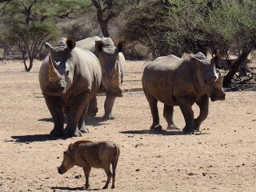
<path id="1" fill-rule="evenodd" d="M 52 136 L 82 136 L 89 102 L 96 97 L 102 81 L 98 58 L 89 50 L 75 47 L 62 38 L 56 47 L 46 42 L 50 54 L 42 62 L 39 83 L 54 119 Z M 64 115 L 66 129 L 64 130 Z"/>

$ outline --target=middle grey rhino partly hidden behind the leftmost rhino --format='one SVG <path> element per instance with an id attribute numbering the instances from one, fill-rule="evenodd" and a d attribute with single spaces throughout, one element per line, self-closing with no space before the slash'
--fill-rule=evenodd
<path id="1" fill-rule="evenodd" d="M 117 97 L 122 97 L 122 82 L 125 72 L 125 57 L 122 54 L 124 42 L 118 42 L 118 47 L 114 46 L 111 38 L 99 38 L 94 36 L 77 42 L 77 46 L 84 50 L 92 51 L 98 58 L 102 66 L 102 86 L 99 93 L 106 93 L 104 103 L 104 119 L 113 119 L 112 113 L 114 101 Z M 90 102 L 88 114 L 95 116 L 98 112 L 96 98 Z"/>

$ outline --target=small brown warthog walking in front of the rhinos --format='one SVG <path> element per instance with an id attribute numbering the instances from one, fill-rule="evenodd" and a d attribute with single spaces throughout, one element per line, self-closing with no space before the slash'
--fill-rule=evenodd
<path id="1" fill-rule="evenodd" d="M 65 174 L 73 166 L 81 166 L 86 176 L 86 189 L 90 189 L 89 175 L 91 167 L 105 170 L 107 180 L 103 189 L 109 186 L 111 177 L 114 189 L 115 169 L 118 164 L 120 150 L 114 142 L 90 142 L 86 140 L 70 143 L 68 150 L 64 151 L 62 165 L 58 167 L 59 174 Z M 110 171 L 110 163 L 112 171 Z"/>

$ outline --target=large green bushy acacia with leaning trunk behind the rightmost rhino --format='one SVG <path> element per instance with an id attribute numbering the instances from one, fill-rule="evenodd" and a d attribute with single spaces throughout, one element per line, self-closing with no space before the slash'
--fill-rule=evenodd
<path id="1" fill-rule="evenodd" d="M 255 10 L 253 0 L 152 1 L 130 14 L 122 34 L 148 47 L 153 58 L 218 49 L 228 62 L 229 54 L 237 54 L 223 79 L 227 86 L 255 49 Z"/>

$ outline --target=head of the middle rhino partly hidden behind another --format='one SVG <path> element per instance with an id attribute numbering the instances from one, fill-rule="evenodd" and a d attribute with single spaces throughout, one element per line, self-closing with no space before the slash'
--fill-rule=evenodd
<path id="1" fill-rule="evenodd" d="M 118 42 L 118 49 L 111 38 L 102 38 L 95 41 L 94 54 L 102 66 L 102 85 L 106 94 L 122 97 L 122 71 L 118 53 L 122 52 L 124 42 Z"/>

